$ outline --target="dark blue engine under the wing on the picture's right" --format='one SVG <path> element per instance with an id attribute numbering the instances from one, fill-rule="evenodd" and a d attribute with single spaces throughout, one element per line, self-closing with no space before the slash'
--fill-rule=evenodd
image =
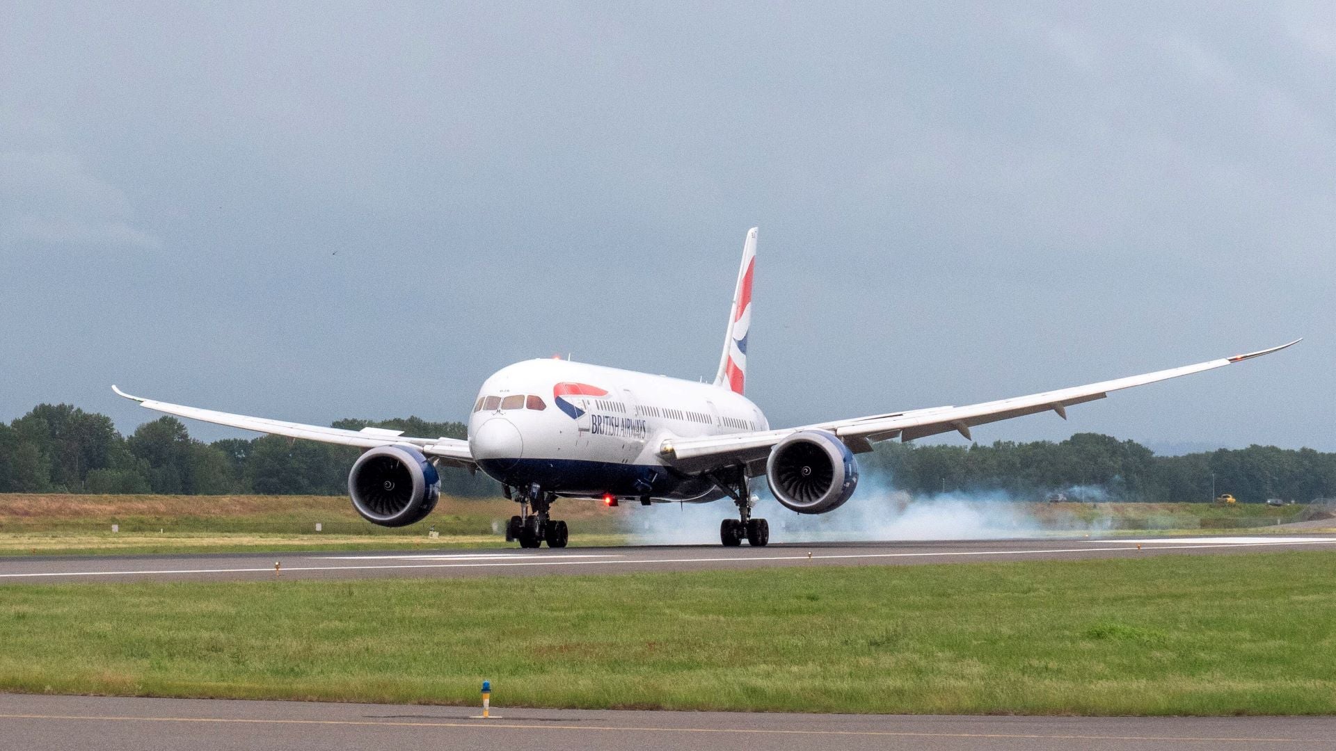
<path id="1" fill-rule="evenodd" d="M 844 441 L 826 430 L 786 436 L 770 450 L 766 480 L 775 500 L 798 513 L 835 510 L 858 486 L 858 462 Z"/>

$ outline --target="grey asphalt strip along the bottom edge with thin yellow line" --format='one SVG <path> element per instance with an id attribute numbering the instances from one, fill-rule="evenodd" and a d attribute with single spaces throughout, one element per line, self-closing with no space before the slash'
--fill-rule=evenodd
<path id="1" fill-rule="evenodd" d="M 498 687 L 498 691 L 504 691 Z M 500 696 L 500 694 L 497 695 Z M 5 748 L 1332 748 L 1336 718 L 1015 718 L 508 710 L 0 694 Z"/>

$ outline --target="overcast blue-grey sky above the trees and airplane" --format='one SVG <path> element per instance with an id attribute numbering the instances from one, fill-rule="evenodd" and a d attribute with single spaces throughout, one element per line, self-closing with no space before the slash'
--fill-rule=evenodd
<path id="1" fill-rule="evenodd" d="M 775 425 L 1303 335 L 974 437 L 1336 450 L 1329 0 L 3 5 L 0 420 L 712 377 L 759 224 Z"/>

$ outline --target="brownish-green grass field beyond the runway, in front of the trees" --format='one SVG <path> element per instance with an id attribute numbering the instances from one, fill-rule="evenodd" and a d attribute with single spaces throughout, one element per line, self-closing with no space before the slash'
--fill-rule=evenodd
<path id="1" fill-rule="evenodd" d="M 1090 531 L 1210 533 L 1265 531 L 1305 506 L 1261 504 L 1013 504 L 1054 533 Z M 636 513 L 558 501 L 572 545 L 620 545 Z M 343 496 L 0 494 L 0 556 L 484 548 L 504 544 L 517 505 L 502 498 L 442 498 L 426 520 L 387 529 L 363 521 Z M 720 517 L 731 512 L 719 506 Z M 315 532 L 315 524 L 323 527 Z M 111 532 L 111 525 L 119 532 Z M 1336 527 L 1336 521 L 1332 522 Z M 436 529 L 438 539 L 429 539 Z"/>

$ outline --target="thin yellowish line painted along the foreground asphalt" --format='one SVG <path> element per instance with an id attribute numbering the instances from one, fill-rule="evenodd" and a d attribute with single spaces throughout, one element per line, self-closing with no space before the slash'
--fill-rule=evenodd
<path id="1" fill-rule="evenodd" d="M 466 727 L 478 730 L 578 730 L 601 732 L 703 732 L 736 735 L 843 735 L 891 738 L 998 738 L 1038 740 L 1138 740 L 1166 743 L 1332 743 L 1336 739 L 1317 738 L 1228 738 L 1190 735 L 1067 735 L 1067 734 L 1009 734 L 1009 732 L 927 732 L 894 730 L 772 730 L 741 727 L 648 727 L 648 726 L 577 726 L 577 724 L 518 724 L 461 723 L 461 722 L 385 722 L 385 720 L 297 720 L 259 718 L 136 718 L 128 715 L 0 715 L 16 720 L 90 720 L 90 722 L 146 722 L 146 723 L 218 723 L 218 724 L 310 724 L 310 726 L 367 726 L 367 727 Z"/>

